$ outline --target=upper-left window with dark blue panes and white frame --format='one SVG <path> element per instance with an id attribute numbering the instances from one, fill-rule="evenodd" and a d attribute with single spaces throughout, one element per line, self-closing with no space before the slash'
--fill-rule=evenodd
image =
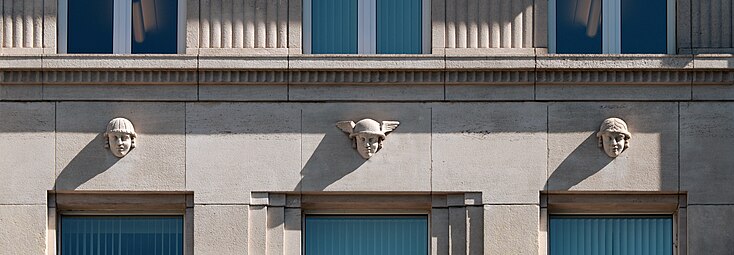
<path id="1" fill-rule="evenodd" d="M 183 2 L 60 0 L 59 53 L 181 52 Z"/>

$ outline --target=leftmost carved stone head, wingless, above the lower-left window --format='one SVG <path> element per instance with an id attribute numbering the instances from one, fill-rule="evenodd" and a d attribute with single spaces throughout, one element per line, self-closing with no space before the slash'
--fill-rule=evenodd
<path id="1" fill-rule="evenodd" d="M 105 148 L 109 148 L 116 157 L 122 158 L 135 148 L 135 138 L 137 136 L 130 120 L 114 118 L 110 120 L 110 123 L 107 123 Z"/>

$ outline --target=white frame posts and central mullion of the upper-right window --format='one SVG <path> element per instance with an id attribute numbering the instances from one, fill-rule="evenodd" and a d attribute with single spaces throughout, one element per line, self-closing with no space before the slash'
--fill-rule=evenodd
<path id="1" fill-rule="evenodd" d="M 556 53 L 556 1 L 548 0 L 548 53 Z M 675 0 L 667 0 L 666 51 L 675 49 Z M 602 54 L 622 53 L 622 1 L 602 0 Z"/>

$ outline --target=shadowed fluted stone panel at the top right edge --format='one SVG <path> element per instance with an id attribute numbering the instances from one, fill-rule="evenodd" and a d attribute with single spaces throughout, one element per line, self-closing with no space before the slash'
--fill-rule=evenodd
<path id="1" fill-rule="evenodd" d="M 734 48 L 733 0 L 691 2 L 694 48 Z"/>

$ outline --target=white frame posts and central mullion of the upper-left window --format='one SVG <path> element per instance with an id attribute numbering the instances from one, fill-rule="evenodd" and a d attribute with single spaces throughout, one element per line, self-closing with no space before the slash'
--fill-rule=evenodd
<path id="1" fill-rule="evenodd" d="M 186 0 L 177 0 L 176 52 L 186 52 Z M 112 54 L 132 53 L 132 1 L 113 0 Z M 68 47 L 69 0 L 59 0 L 58 53 L 66 54 Z"/>

